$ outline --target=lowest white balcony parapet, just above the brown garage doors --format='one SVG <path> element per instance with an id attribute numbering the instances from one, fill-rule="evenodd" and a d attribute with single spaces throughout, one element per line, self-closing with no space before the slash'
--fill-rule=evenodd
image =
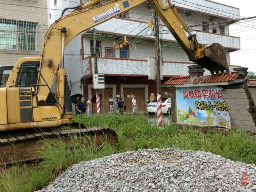
<path id="1" fill-rule="evenodd" d="M 94 58 L 89 56 L 85 58 L 85 63 L 88 67 L 85 75 L 94 74 Z M 97 57 L 98 74 L 112 75 L 112 76 L 148 76 L 147 60 L 136 59 L 121 59 L 121 58 L 102 58 Z M 184 76 L 188 75 L 188 66 L 194 65 L 193 62 L 163 62 L 163 76 Z M 229 66 L 230 72 L 233 68 L 239 66 Z M 210 75 L 208 70 L 205 70 L 204 75 Z"/>

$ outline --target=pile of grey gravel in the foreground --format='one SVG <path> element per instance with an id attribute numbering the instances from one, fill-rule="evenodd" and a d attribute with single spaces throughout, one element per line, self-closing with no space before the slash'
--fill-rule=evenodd
<path id="1" fill-rule="evenodd" d="M 249 184 L 241 185 L 247 172 Z M 40 192 L 256 192 L 256 166 L 203 151 L 145 149 L 80 162 Z"/>

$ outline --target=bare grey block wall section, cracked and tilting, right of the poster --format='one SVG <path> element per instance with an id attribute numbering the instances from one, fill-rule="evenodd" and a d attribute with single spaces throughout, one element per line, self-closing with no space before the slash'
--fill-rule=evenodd
<path id="1" fill-rule="evenodd" d="M 250 89 L 249 89 L 250 90 Z M 254 88 L 254 97 L 256 99 L 256 88 Z M 239 128 L 240 130 L 256 131 L 252 115 L 248 112 L 249 100 L 243 88 L 230 88 L 221 91 L 224 98 L 228 113 L 231 119 L 231 126 Z"/>

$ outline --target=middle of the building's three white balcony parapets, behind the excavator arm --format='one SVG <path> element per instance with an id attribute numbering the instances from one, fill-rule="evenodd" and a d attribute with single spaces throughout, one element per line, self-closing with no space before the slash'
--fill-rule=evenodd
<path id="1" fill-rule="evenodd" d="M 148 21 L 148 20 L 147 20 Z M 154 43 L 155 37 L 150 35 L 150 29 L 144 30 L 146 28 L 147 22 L 130 20 L 124 18 L 113 18 L 108 20 L 98 26 L 96 26 L 97 34 L 113 38 L 124 38 L 132 37 L 133 41 L 146 42 L 146 43 Z M 115 28 L 110 26 L 116 26 Z M 144 30 L 143 32 L 141 32 Z M 176 42 L 174 36 L 169 32 L 166 26 L 160 27 L 161 31 L 164 31 L 161 34 L 162 44 L 172 45 L 174 47 L 180 47 L 180 45 Z M 141 32 L 139 35 L 137 35 Z M 197 40 L 200 44 L 212 44 L 219 43 L 224 47 L 224 50 L 227 52 L 233 52 L 236 50 L 240 50 L 240 38 L 235 36 L 229 36 L 224 34 L 216 34 L 212 32 L 204 32 L 199 30 L 191 30 L 192 34 L 196 34 Z M 83 36 L 92 34 L 92 30 L 88 30 L 84 33 Z M 134 38 L 134 36 L 136 36 Z M 129 38 L 128 38 L 129 39 Z"/>

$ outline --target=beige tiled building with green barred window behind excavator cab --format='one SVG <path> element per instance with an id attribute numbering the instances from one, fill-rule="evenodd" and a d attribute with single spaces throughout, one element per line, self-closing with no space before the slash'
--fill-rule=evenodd
<path id="1" fill-rule="evenodd" d="M 0 66 L 40 56 L 48 29 L 47 0 L 0 0 Z"/>

